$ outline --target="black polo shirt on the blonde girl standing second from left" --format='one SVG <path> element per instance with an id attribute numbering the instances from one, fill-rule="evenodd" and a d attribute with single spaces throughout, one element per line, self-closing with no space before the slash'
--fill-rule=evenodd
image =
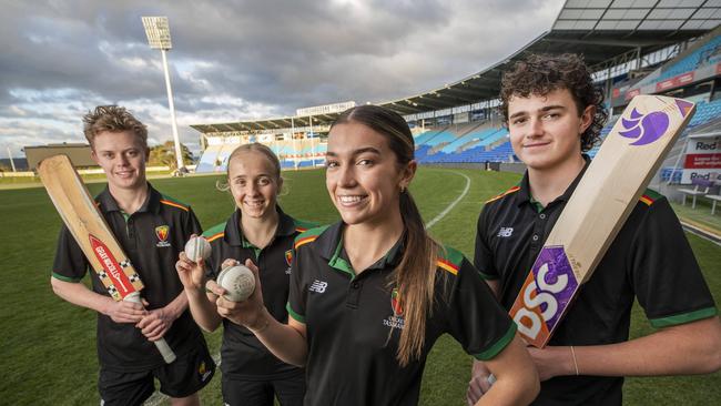
<path id="1" fill-rule="evenodd" d="M 280 223 L 273 241 L 258 248 L 243 236 L 241 211 L 235 210 L 226 223 L 209 229 L 203 235 L 211 243 L 213 253 L 207 260 L 209 277 L 215 280 L 223 261 L 227 258 L 245 263 L 250 258 L 260 270 L 263 301 L 268 312 L 282 323 L 287 323 L 285 304 L 288 300 L 293 241 L 302 232 L 317 224 L 297 221 L 277 207 Z M 302 374 L 303 369 L 276 358 L 248 331 L 223 318 L 223 345 L 221 369 L 223 375 L 235 379 L 266 380 Z"/>

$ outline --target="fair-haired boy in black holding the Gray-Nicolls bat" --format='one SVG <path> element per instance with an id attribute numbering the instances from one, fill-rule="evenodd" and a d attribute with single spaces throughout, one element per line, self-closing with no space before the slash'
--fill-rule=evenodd
<path id="1" fill-rule="evenodd" d="M 145 179 L 148 130 L 124 108 L 98 106 L 84 118 L 92 159 L 103 169 L 108 187 L 95 197 L 105 222 L 136 268 L 145 288 L 143 307 L 115 302 L 90 272 L 92 290 L 80 283 L 89 263 L 63 226 L 51 277 L 60 297 L 98 312 L 98 387 L 102 405 L 140 405 L 160 390 L 173 405 L 199 405 L 197 390 L 215 364 L 187 311 L 174 270 L 179 253 L 201 227 L 190 206 L 153 189 Z M 177 358 L 165 364 L 152 342 L 165 338 Z"/>

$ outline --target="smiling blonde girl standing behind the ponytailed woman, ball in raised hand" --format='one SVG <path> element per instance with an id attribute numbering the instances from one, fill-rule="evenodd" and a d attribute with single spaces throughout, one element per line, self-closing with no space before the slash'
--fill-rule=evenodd
<path id="1" fill-rule="evenodd" d="M 223 402 L 272 406 L 273 398 L 277 397 L 282 406 L 302 405 L 304 371 L 278 361 L 247 328 L 222 318 L 215 305 L 219 297 L 206 292 L 205 284 L 207 280 L 213 286 L 222 268 L 250 260 L 260 268 L 268 313 L 285 323 L 288 253 L 294 238 L 316 224 L 295 220 L 281 210 L 277 204 L 283 186 L 281 163 L 270 148 L 258 143 L 241 145 L 227 162 L 227 190 L 235 211 L 226 222 L 203 233 L 212 246 L 206 263 L 181 253 L 176 268 L 197 324 L 213 332 L 223 323 Z"/>

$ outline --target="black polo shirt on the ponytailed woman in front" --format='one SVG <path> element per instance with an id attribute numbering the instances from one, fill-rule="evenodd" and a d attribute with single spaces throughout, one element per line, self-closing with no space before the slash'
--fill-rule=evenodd
<path id="1" fill-rule="evenodd" d="M 305 405 L 416 405 L 426 357 L 441 334 L 478 359 L 495 357 L 514 338 L 516 325 L 478 272 L 446 248 L 437 260 L 423 355 L 400 367 L 404 317 L 389 277 L 403 257 L 402 240 L 356 274 L 344 250 L 343 223 L 296 238 L 288 312 L 307 328 Z"/>

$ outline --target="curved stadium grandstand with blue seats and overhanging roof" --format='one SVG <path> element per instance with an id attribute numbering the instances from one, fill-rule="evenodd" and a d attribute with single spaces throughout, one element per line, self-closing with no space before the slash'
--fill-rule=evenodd
<path id="1" fill-rule="evenodd" d="M 528 53 L 580 53 L 607 95 L 610 119 L 603 135 L 637 94 L 697 103 L 689 128 L 652 184 L 721 182 L 720 22 L 721 0 L 567 0 L 549 31 L 508 58 L 454 83 L 376 104 L 407 120 L 422 164 L 512 166 L 518 160 L 496 110 L 502 73 Z M 266 143 L 284 168 L 321 165 L 329 124 L 354 104 L 192 125 L 201 132 L 204 149 L 196 172 L 225 171 L 233 149 L 247 142 Z M 590 154 L 596 151 L 598 146 Z"/>

